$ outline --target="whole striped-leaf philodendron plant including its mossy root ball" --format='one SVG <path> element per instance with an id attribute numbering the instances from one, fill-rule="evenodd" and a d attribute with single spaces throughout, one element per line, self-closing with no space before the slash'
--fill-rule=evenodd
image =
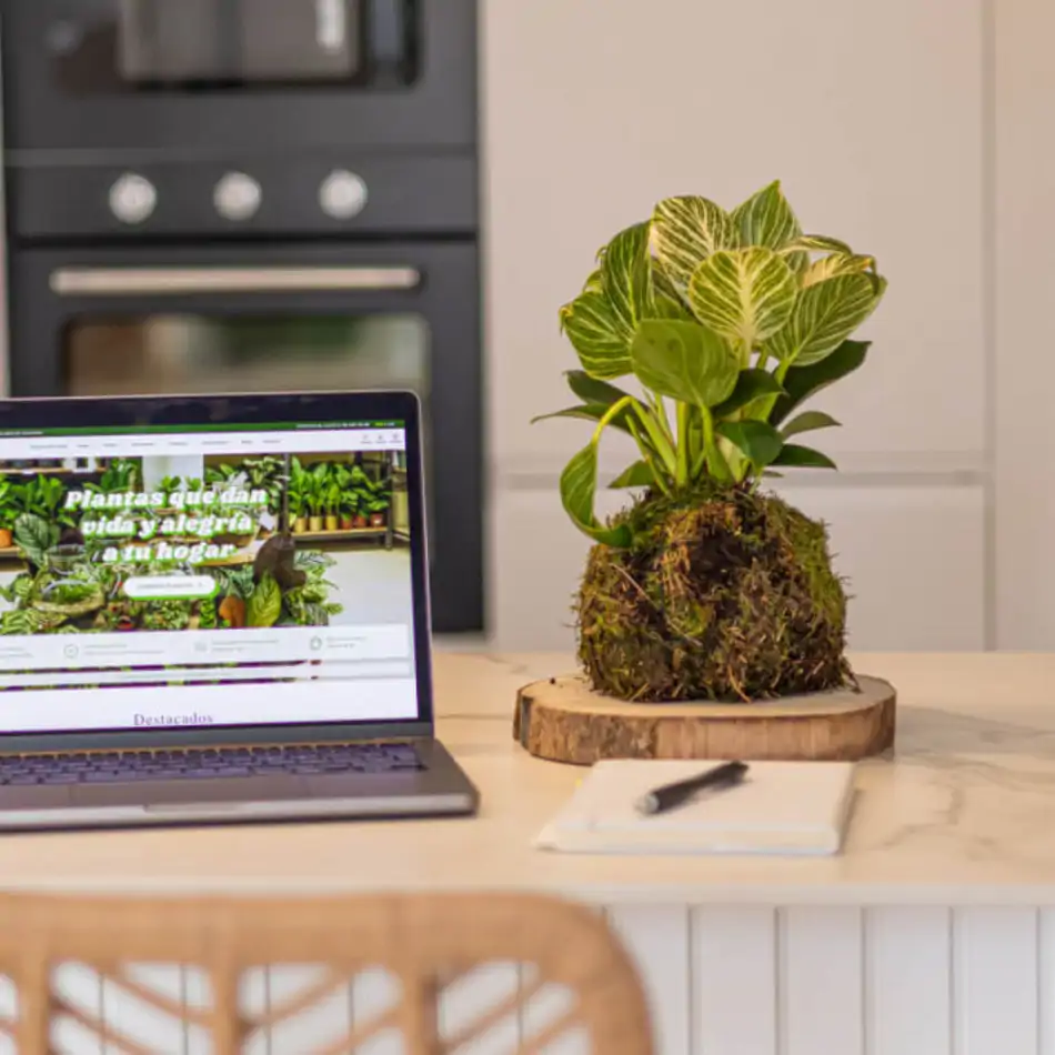
<path id="1" fill-rule="evenodd" d="M 600 251 L 561 309 L 581 402 L 545 415 L 596 422 L 561 476 L 594 541 L 576 601 L 594 689 L 750 701 L 852 681 L 825 528 L 762 484 L 783 466 L 835 468 L 801 436 L 837 422 L 801 404 L 864 362 L 850 336 L 885 285 L 872 257 L 804 234 L 780 183 L 732 212 L 665 199 Z M 607 428 L 640 455 L 612 486 L 642 490 L 602 523 Z"/>

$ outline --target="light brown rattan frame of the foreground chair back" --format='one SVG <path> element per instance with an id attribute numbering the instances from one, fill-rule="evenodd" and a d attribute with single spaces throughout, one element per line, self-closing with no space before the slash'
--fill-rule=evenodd
<path id="1" fill-rule="evenodd" d="M 489 963 L 533 964 L 530 983 L 455 1037 L 441 1037 L 443 987 Z M 153 1055 L 120 1028 L 71 1008 L 53 992 L 53 968 L 93 967 L 135 997 L 203 1028 L 215 1055 L 235 1055 L 255 1032 L 309 1008 L 361 971 L 383 967 L 402 998 L 356 1024 L 318 1055 L 354 1052 L 382 1029 L 402 1033 L 410 1055 L 451 1055 L 502 1018 L 519 1014 L 545 984 L 566 986 L 571 1008 L 519 1051 L 544 1049 L 573 1027 L 585 1029 L 593 1055 L 651 1055 L 651 1024 L 636 972 L 604 920 L 556 898 L 521 894 L 392 894 L 346 897 L 63 897 L 0 896 L 0 971 L 14 984 L 18 1017 L 3 1026 L 19 1055 L 47 1055 L 53 1017 L 72 1015 L 129 1055 Z M 129 964 L 192 965 L 209 978 L 208 1007 L 139 985 Z M 239 1011 L 243 973 L 264 964 L 319 964 L 325 977 L 247 1021 Z M 307 1053 L 305 1053 L 307 1055 Z"/>

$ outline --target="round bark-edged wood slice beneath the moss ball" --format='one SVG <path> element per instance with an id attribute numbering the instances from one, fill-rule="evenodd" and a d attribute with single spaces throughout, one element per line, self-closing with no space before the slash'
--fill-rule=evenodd
<path id="1" fill-rule="evenodd" d="M 760 703 L 626 703 L 565 675 L 521 689 L 513 736 L 533 755 L 601 758 L 843 761 L 894 745 L 894 687 L 858 677 L 837 690 Z"/>

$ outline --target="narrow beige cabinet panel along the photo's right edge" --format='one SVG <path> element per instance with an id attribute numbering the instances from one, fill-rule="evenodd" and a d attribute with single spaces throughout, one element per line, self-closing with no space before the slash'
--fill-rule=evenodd
<path id="1" fill-rule="evenodd" d="M 994 20 L 996 646 L 1055 644 L 1055 7 L 999 0 Z"/>

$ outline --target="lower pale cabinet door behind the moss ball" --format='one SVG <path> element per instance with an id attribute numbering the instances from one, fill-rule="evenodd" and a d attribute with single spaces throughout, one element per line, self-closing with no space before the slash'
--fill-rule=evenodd
<path id="1" fill-rule="evenodd" d="M 978 488 L 785 485 L 784 496 L 828 524 L 848 577 L 850 646 L 958 651 L 984 646 L 983 494 Z M 599 514 L 625 496 L 601 494 Z M 492 614 L 503 651 L 574 644 L 572 599 L 589 541 L 554 486 L 495 496 Z"/>

